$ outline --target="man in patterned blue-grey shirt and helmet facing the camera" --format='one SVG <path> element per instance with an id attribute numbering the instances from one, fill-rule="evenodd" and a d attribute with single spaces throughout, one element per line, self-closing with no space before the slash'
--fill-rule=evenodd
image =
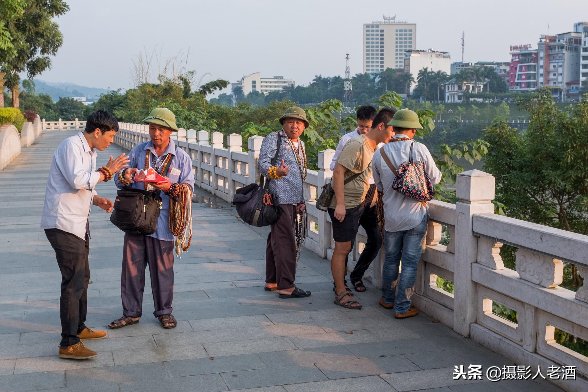
<path id="1" fill-rule="evenodd" d="M 296 239 L 294 226 L 296 213 L 306 209 L 303 197 L 303 181 L 306 178 L 306 154 L 300 135 L 309 122 L 299 107 L 291 107 L 280 117 L 283 128 L 263 139 L 259 151 L 258 169 L 269 178 L 269 191 L 274 204 L 282 210 L 277 222 L 270 226 L 265 257 L 265 290 L 278 291 L 280 298 L 308 297 L 310 291 L 300 290 L 294 284 L 296 278 Z M 276 159 L 272 159 L 280 149 Z M 279 163 L 278 163 L 279 162 Z M 269 180 L 268 180 L 269 181 Z"/>

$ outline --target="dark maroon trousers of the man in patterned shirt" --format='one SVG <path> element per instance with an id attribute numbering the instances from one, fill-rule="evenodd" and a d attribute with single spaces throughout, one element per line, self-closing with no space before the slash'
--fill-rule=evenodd
<path id="1" fill-rule="evenodd" d="M 270 226 L 265 250 L 265 283 L 277 283 L 278 290 L 294 287 L 296 278 L 296 206 L 280 204 L 282 214 Z"/>

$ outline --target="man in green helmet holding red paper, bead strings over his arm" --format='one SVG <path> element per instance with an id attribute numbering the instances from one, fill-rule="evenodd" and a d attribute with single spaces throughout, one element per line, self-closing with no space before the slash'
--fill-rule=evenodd
<path id="1" fill-rule="evenodd" d="M 121 277 L 123 317 L 108 325 L 113 329 L 138 323 L 141 318 L 147 265 L 149 265 L 151 292 L 155 307 L 153 315 L 159 319 L 163 328 L 174 328 L 177 325 L 177 321 L 172 315 L 175 237 L 169 230 L 169 200 L 170 190 L 173 191 L 175 188 L 173 184 L 188 184 L 190 192 L 193 192 L 192 159 L 185 151 L 176 147 L 170 138 L 172 132 L 178 131 L 176 117 L 171 110 L 155 108 L 143 122 L 149 124 L 151 140 L 143 142 L 131 150 L 129 168 L 119 173 L 125 181 L 122 182 L 116 175 L 115 182 L 116 186 L 121 189 L 125 185 L 132 184 L 133 188 L 159 192 L 162 198 L 162 208 L 153 234 L 125 233 Z M 161 185 L 133 182 L 133 175 L 137 170 L 147 170 L 149 167 L 167 177 L 168 181 Z M 178 200 L 177 197 L 176 200 Z"/>

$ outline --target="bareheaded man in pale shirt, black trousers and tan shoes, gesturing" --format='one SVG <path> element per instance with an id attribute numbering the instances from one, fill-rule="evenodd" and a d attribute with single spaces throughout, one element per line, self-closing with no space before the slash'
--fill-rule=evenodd
<path id="1" fill-rule="evenodd" d="M 108 161 L 96 171 L 96 150 L 104 151 L 118 131 L 112 114 L 99 110 L 86 120 L 86 129 L 59 144 L 55 151 L 41 217 L 41 228 L 55 250 L 61 271 L 61 345 L 59 357 L 86 359 L 95 351 L 83 347 L 80 339 L 106 337 L 103 331 L 92 331 L 84 324 L 88 310 L 90 269 L 88 251 L 90 230 L 88 216 L 92 205 L 106 212 L 112 201 L 99 197 L 94 190 L 100 181 L 108 181 L 110 173 L 127 166 L 125 154 Z"/>

